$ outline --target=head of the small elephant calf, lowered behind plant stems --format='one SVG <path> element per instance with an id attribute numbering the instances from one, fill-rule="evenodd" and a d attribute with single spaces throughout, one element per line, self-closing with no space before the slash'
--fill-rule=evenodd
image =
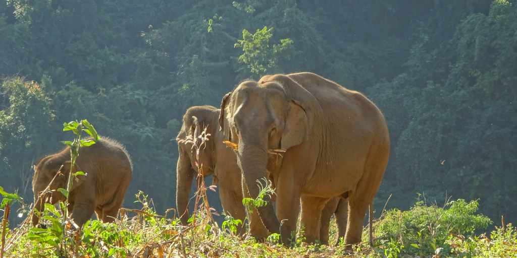
<path id="1" fill-rule="evenodd" d="M 39 212 L 42 212 L 45 209 L 45 203 L 54 205 L 58 201 L 66 199 L 61 192 L 57 191 L 57 189 L 67 188 L 70 171 L 72 171 L 72 173 L 81 171 L 77 164 L 74 164 L 73 168 L 71 168 L 70 157 L 54 155 L 47 156 L 35 166 L 33 191 L 35 208 L 38 209 Z M 78 175 L 77 180 L 73 180 L 69 194 L 71 194 L 74 189 L 78 188 L 85 179 L 85 175 Z M 41 198 L 39 198 L 41 192 L 44 191 L 47 186 L 49 186 L 50 192 L 45 193 Z M 39 223 L 38 214 L 35 213 L 33 215 L 32 222 L 34 226 Z"/>

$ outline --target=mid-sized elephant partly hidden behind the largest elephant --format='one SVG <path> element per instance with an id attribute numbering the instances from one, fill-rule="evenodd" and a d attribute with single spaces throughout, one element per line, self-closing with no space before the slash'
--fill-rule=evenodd
<path id="1" fill-rule="evenodd" d="M 246 233 L 244 221 L 246 209 L 242 204 L 241 172 L 237 166 L 237 157 L 232 148 L 226 146 L 223 141 L 228 140 L 228 135 L 219 130 L 220 110 L 213 106 L 194 106 L 185 112 L 183 126 L 178 133 L 178 165 L 176 186 L 176 207 L 181 223 L 188 224 L 190 218 L 188 211 L 189 193 L 192 181 L 199 174 L 195 163 L 202 164 L 203 177 L 213 175 L 214 184 L 219 185 L 219 198 L 224 212 L 234 219 L 240 219 L 243 223 L 238 229 L 239 234 Z M 181 141 L 188 136 L 201 144 L 197 138 L 206 128 L 208 141 L 202 146 L 199 160 L 196 150 L 191 142 Z M 255 238 L 265 238 L 269 232 L 264 227 L 256 212 L 248 214 L 249 235 Z"/>

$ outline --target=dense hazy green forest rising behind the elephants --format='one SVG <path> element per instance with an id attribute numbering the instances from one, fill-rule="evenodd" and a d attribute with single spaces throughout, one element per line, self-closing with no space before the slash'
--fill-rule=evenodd
<path id="1" fill-rule="evenodd" d="M 516 4 L 1 1 L 0 185 L 32 202 L 31 166 L 64 147 L 64 122 L 88 119 L 132 157 L 124 206 L 142 190 L 165 211 L 188 107 L 218 106 L 246 78 L 308 71 L 383 111 L 391 153 L 376 207 L 447 195 L 515 222 Z"/>

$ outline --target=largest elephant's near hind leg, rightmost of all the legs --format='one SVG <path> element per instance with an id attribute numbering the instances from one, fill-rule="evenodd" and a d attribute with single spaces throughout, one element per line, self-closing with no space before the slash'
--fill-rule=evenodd
<path id="1" fill-rule="evenodd" d="M 364 172 L 354 191 L 348 195 L 348 225 L 345 234 L 346 244 L 361 242 L 362 223 L 368 206 L 379 186 L 388 163 L 389 149 L 372 147 L 368 152 L 368 159 L 364 165 Z"/>

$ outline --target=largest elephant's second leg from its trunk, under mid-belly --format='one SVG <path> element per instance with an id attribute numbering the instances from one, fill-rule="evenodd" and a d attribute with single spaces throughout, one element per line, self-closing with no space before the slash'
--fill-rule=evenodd
<path id="1" fill-rule="evenodd" d="M 305 195 L 301 196 L 300 223 L 305 227 L 304 235 L 307 243 L 313 243 L 315 240 L 320 240 L 320 219 L 323 208 L 328 201 L 328 198 Z"/>

